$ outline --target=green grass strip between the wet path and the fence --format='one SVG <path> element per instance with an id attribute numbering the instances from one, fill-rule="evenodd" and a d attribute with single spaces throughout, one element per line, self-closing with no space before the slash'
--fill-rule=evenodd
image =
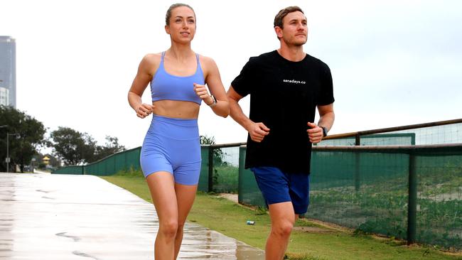
<path id="1" fill-rule="evenodd" d="M 146 181 L 138 174 L 122 173 L 102 178 L 151 202 Z M 247 220 L 253 220 L 255 224 L 247 225 Z M 264 249 L 270 229 L 269 215 L 262 213 L 262 210 L 252 210 L 223 197 L 205 193 L 198 193 L 188 221 L 260 249 Z M 444 254 L 433 247 L 407 247 L 394 239 L 375 239 L 367 234 L 329 229 L 306 220 L 296 223 L 287 256 L 289 259 L 300 260 L 462 259 L 461 256 Z"/>

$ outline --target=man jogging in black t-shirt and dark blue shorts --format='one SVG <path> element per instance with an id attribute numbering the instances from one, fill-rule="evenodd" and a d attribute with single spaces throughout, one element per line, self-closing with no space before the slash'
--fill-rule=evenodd
<path id="1" fill-rule="evenodd" d="M 232 119 L 249 133 L 245 168 L 254 173 L 269 207 L 266 259 L 284 257 L 294 222 L 308 209 L 311 144 L 327 135 L 335 117 L 331 70 L 303 52 L 308 35 L 303 11 L 298 6 L 279 11 L 274 31 L 280 48 L 250 58 L 227 92 Z M 238 104 L 247 94 L 249 117 Z"/>

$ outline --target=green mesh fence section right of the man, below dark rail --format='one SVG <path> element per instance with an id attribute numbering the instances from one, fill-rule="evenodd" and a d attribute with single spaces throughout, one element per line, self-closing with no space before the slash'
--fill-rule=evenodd
<path id="1" fill-rule="evenodd" d="M 461 249 L 461 210 L 462 144 L 313 151 L 306 217 Z"/>

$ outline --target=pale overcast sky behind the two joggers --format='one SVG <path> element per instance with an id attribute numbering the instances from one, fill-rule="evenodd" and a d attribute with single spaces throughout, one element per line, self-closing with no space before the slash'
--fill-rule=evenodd
<path id="1" fill-rule="evenodd" d="M 304 50 L 333 75 L 331 134 L 462 117 L 462 1 L 184 2 L 197 15 L 193 50 L 215 60 L 226 90 L 250 56 L 279 48 L 276 13 L 300 6 Z M 17 108 L 50 131 L 68 126 L 100 144 L 109 135 L 141 146 L 151 117 L 136 117 L 127 92 L 141 58 L 169 48 L 163 27 L 173 3 L 0 0 L 0 35 L 16 39 Z M 199 128 L 217 143 L 247 136 L 205 104 Z"/>

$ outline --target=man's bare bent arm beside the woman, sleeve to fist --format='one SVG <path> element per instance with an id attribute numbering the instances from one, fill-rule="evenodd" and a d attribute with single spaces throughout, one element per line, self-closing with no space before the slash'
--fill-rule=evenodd
<path id="1" fill-rule="evenodd" d="M 238 124 L 249 132 L 252 141 L 256 141 L 257 143 L 261 142 L 264 136 L 269 134 L 269 128 L 261 122 L 255 123 L 242 112 L 242 108 L 238 104 L 242 96 L 238 94 L 232 86 L 230 86 L 226 94 L 228 102 L 230 102 L 230 116 L 232 119 L 237 121 Z"/>

